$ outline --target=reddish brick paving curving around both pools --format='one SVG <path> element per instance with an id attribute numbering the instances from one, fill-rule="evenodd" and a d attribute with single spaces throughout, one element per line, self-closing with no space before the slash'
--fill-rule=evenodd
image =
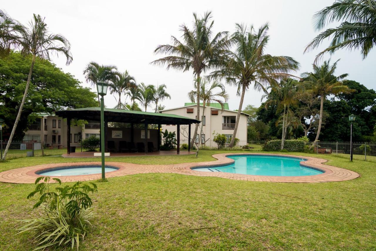
<path id="1" fill-rule="evenodd" d="M 302 166 L 317 168 L 324 171 L 324 173 L 311 175 L 311 176 L 257 176 L 257 175 L 247 175 L 247 174 L 237 174 L 237 173 L 223 173 L 223 172 L 200 172 L 195 171 L 192 168 L 197 167 L 209 167 L 209 166 L 220 166 L 226 164 L 232 164 L 233 159 L 227 158 L 226 156 L 241 156 L 241 155 L 256 155 L 256 156 L 280 156 L 280 157 L 290 157 L 290 158 L 300 158 L 306 159 L 301 161 Z M 265 181 L 265 182 L 293 182 L 293 183 L 318 183 L 318 182 L 333 182 L 333 181 L 347 181 L 359 177 L 358 173 L 350 171 L 340 167 L 334 167 L 330 165 L 325 165 L 323 163 L 327 162 L 326 159 L 319 159 L 307 156 L 297 156 L 297 155 L 285 155 L 285 154 L 264 154 L 264 153 L 219 153 L 212 155 L 217 160 L 206 161 L 206 162 L 192 162 L 192 163 L 180 163 L 171 165 L 142 165 L 133 164 L 126 162 L 106 162 L 106 165 L 111 165 L 113 167 L 119 168 L 115 171 L 110 171 L 106 173 L 106 178 L 113 178 L 118 176 L 125 176 L 130 174 L 141 174 L 141 173 L 177 173 L 186 174 L 193 176 L 203 176 L 203 177 L 218 177 L 226 179 L 235 179 L 243 181 Z M 38 175 L 35 172 L 41 170 L 48 170 L 50 168 L 56 167 L 69 167 L 77 165 L 100 165 L 100 162 L 71 162 L 71 163 L 56 163 L 56 164 L 44 164 L 36 165 L 31 167 L 22 167 L 12 170 L 3 171 L 0 173 L 0 182 L 8 183 L 34 183 L 35 179 L 43 176 Z M 75 175 L 75 176 L 50 176 L 53 178 L 59 178 L 62 182 L 74 182 L 74 181 L 91 181 L 101 178 L 101 174 L 86 174 L 86 175 Z"/>

